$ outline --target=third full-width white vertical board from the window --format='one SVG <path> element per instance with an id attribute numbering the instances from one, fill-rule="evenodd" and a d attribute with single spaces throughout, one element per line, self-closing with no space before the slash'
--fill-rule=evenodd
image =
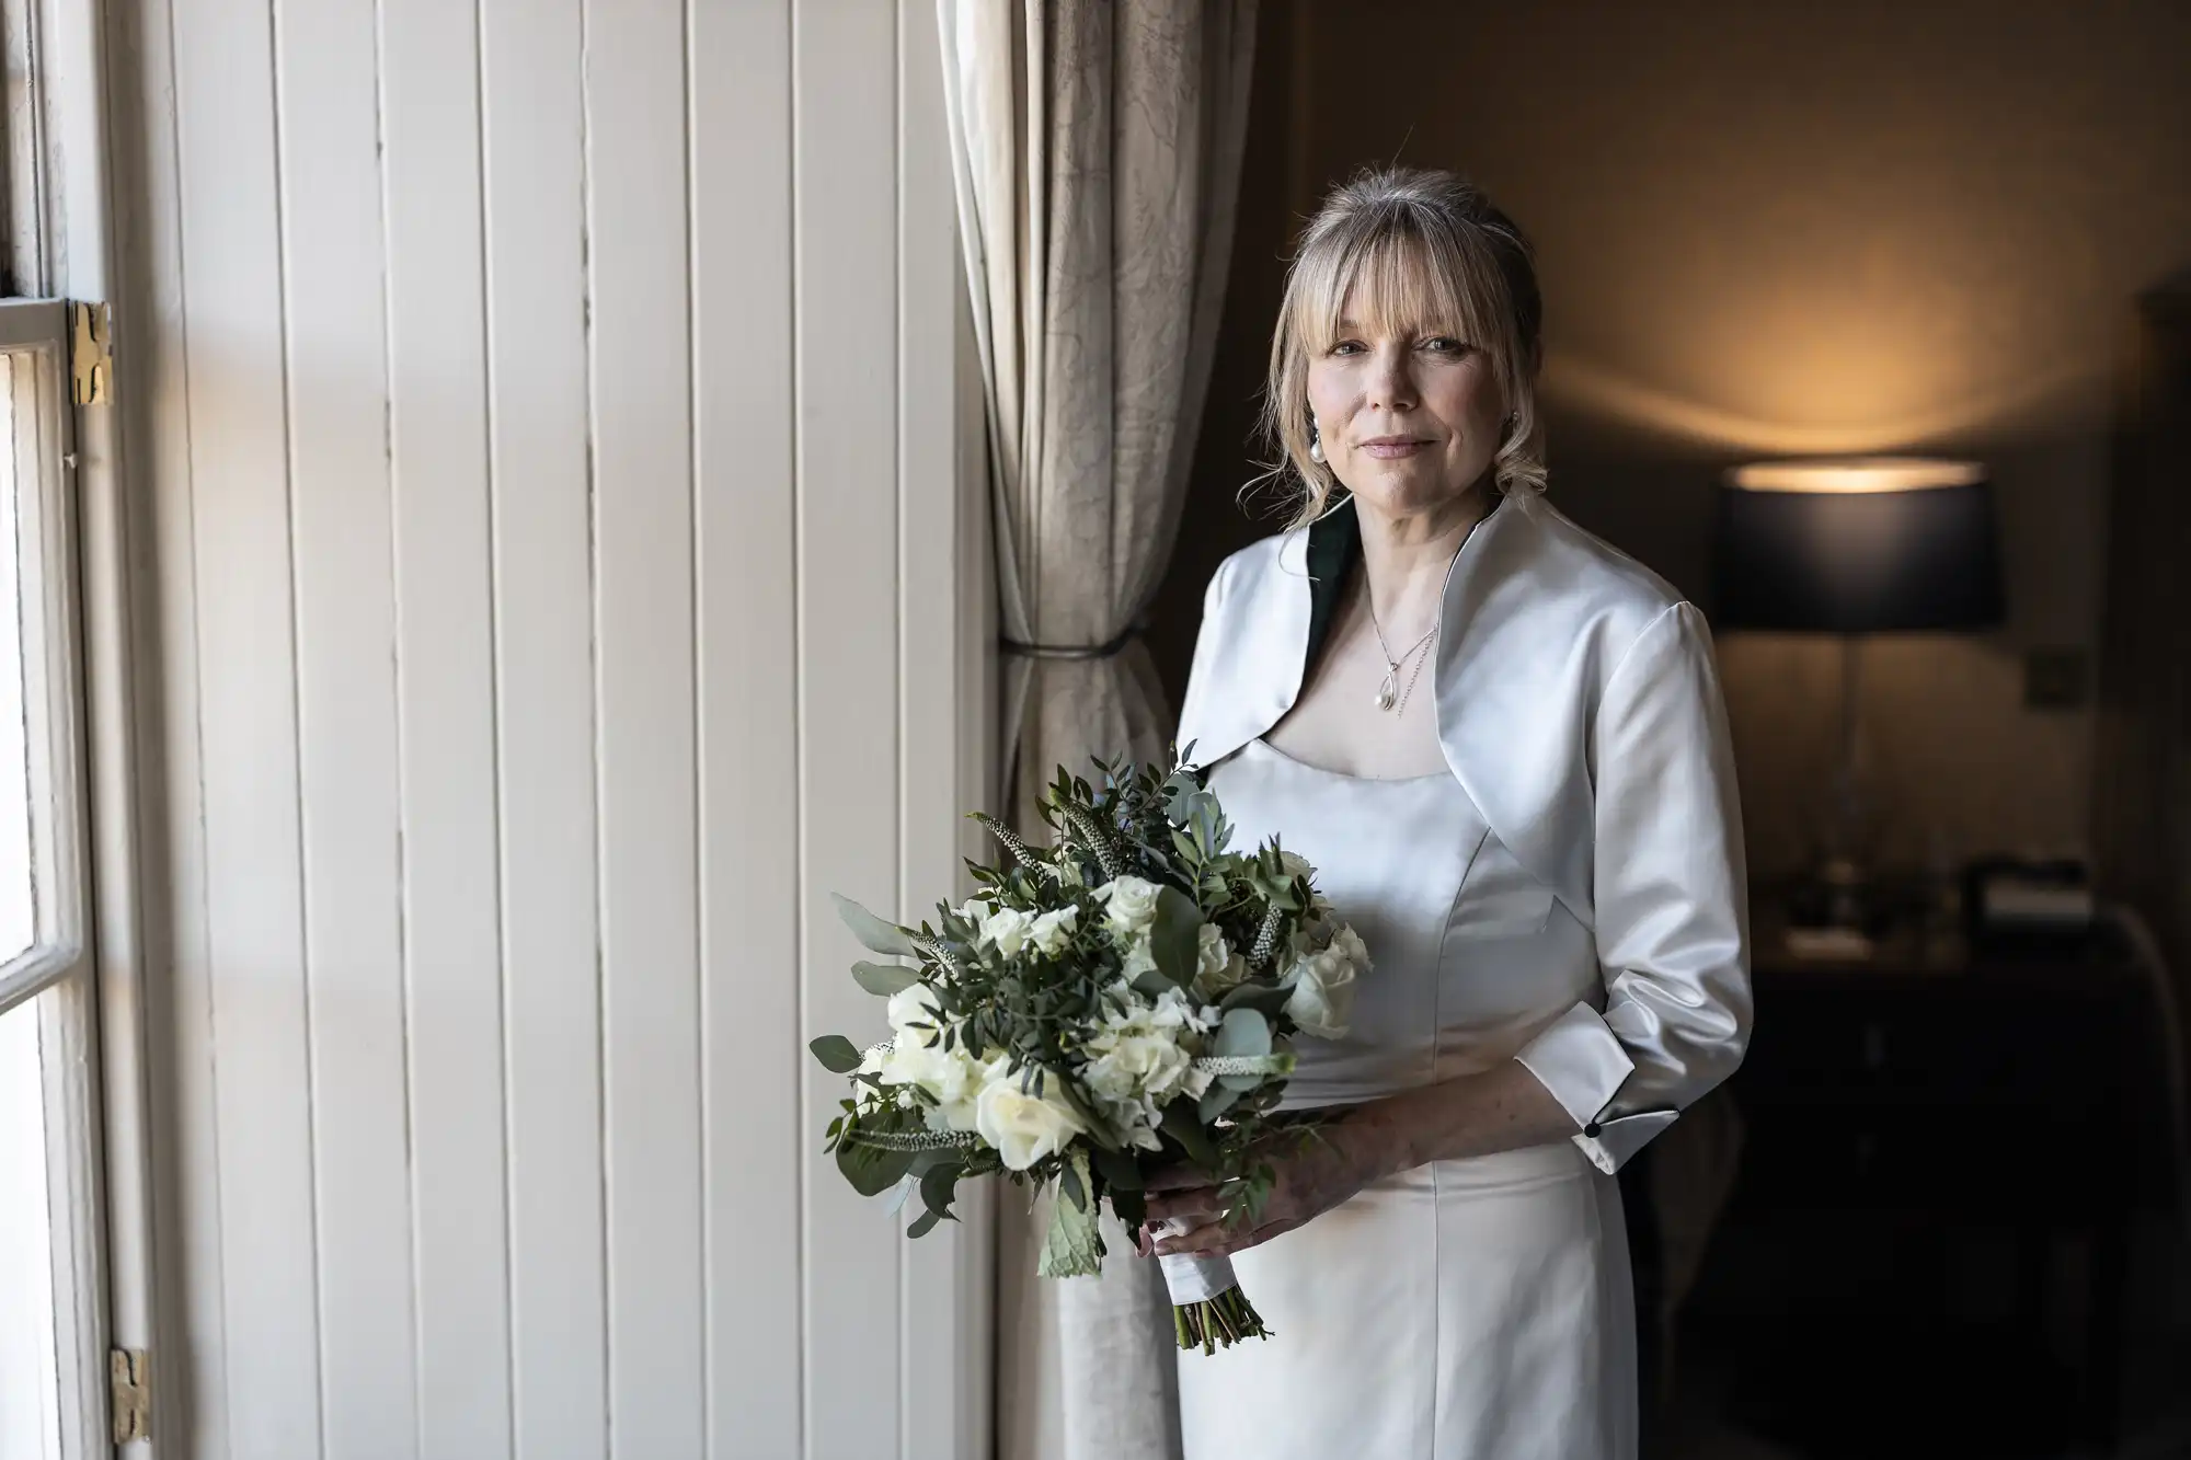
<path id="1" fill-rule="evenodd" d="M 383 0 L 418 1453 L 511 1456 L 478 4 Z"/>

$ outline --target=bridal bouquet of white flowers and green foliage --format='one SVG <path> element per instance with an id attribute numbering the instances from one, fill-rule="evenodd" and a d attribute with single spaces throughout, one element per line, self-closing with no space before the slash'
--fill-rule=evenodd
<path id="1" fill-rule="evenodd" d="M 852 934 L 892 962 L 852 978 L 890 1000 L 890 1039 L 808 1048 L 850 1079 L 828 1151 L 861 1195 L 920 1193 L 911 1236 L 951 1217 L 964 1177 L 1054 1188 L 1039 1274 L 1102 1267 L 1096 1214 L 1146 1217 L 1148 1173 L 1201 1168 L 1253 1225 L 1275 1177 L 1273 1118 L 1293 1039 L 1339 1037 L 1369 958 L 1277 837 L 1229 851 L 1194 767 L 1096 761 L 1041 800 L 1052 846 L 977 813 L 1008 857 L 968 862 L 977 897 L 898 927 L 844 897 Z M 1312 1129 L 1304 1131 L 1312 1138 Z M 1264 1337 L 1225 1258 L 1166 1256 L 1181 1348 Z"/>

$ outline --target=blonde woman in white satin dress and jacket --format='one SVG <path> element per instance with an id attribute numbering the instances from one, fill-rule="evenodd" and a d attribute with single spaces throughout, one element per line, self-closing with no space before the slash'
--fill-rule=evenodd
<path id="1" fill-rule="evenodd" d="M 1301 511 L 1212 579 L 1179 743 L 1376 967 L 1299 1041 L 1286 1105 L 1337 1114 L 1260 1225 L 1150 1204 L 1273 1331 L 1181 1357 L 1188 1460 L 1634 1453 L 1613 1173 L 1742 1059 L 1742 833 L 1702 616 L 1540 498 L 1540 316 L 1450 173 L 1358 175 L 1293 261 Z"/>

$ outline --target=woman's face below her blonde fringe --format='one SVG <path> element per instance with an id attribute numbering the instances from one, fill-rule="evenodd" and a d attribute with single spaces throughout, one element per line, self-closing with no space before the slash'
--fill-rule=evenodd
<path id="1" fill-rule="evenodd" d="M 1350 289 L 1332 344 L 1308 362 L 1323 463 L 1365 504 L 1415 515 L 1457 500 L 1499 454 L 1505 401 L 1490 357 L 1431 327 L 1385 318 Z"/>

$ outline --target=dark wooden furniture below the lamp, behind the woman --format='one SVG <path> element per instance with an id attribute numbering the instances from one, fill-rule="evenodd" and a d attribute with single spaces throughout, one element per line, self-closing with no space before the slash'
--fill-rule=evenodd
<path id="1" fill-rule="evenodd" d="M 1683 1364 L 1716 1355 L 1737 1423 L 1803 1456 L 2103 1442 L 2127 1228 L 2167 1186 L 2147 984 L 2103 949 L 1819 967 L 1762 943 Z"/>

